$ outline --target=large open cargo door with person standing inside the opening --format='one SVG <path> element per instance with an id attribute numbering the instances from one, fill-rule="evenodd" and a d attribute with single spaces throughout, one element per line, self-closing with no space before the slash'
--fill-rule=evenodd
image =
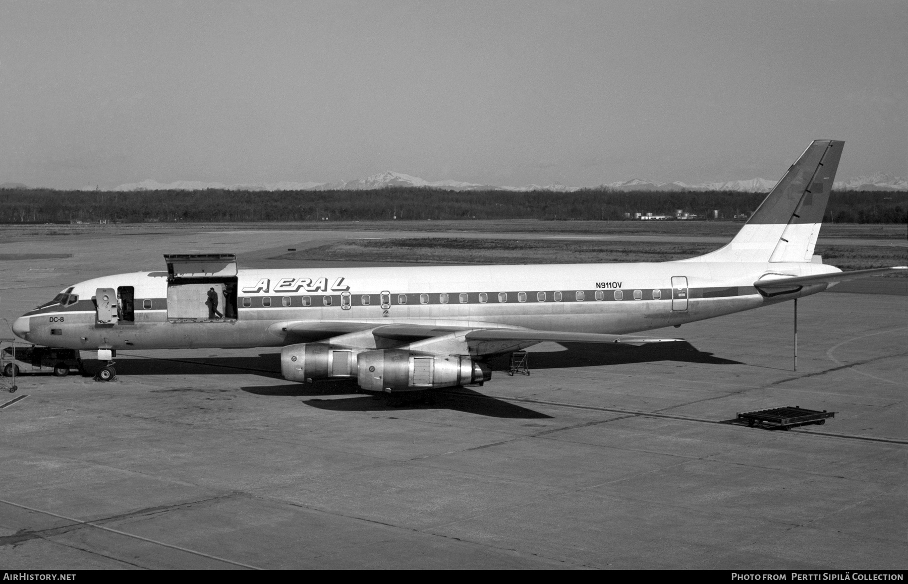
<path id="1" fill-rule="evenodd" d="M 165 254 L 164 261 L 167 262 L 168 319 L 236 319 L 235 255 Z"/>

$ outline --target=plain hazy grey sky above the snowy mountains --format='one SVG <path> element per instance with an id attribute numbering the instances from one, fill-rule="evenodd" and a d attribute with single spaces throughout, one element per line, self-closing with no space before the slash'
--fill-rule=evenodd
<path id="1" fill-rule="evenodd" d="M 0 182 L 908 175 L 908 2 L 0 0 Z"/>

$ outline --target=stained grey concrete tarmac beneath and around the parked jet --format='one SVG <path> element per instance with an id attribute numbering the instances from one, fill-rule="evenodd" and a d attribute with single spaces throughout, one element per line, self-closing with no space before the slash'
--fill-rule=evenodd
<path id="1" fill-rule="evenodd" d="M 192 237 L 226 250 L 99 237 L 5 262 L 0 313 L 160 269 Z M 0 253 L 25 249 L 60 246 Z M 0 565 L 905 569 L 908 299 L 821 293 L 798 318 L 796 372 L 786 303 L 654 333 L 676 346 L 531 353 L 531 375 L 498 359 L 485 386 L 395 407 L 288 383 L 273 348 L 123 352 L 107 384 L 24 375 L 0 394 Z M 781 405 L 836 414 L 730 423 Z"/>

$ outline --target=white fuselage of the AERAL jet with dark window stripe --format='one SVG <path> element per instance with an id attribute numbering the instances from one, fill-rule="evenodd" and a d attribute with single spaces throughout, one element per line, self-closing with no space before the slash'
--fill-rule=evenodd
<path id="1" fill-rule="evenodd" d="M 80 282 L 69 290 L 78 300 L 26 313 L 16 321 L 15 332 L 39 345 L 84 350 L 283 346 L 298 341 L 281 324 L 307 321 L 627 334 L 740 312 L 827 287 L 765 297 L 754 282 L 766 275 L 838 271 L 804 262 L 708 261 L 240 269 L 234 313 L 213 319 L 207 318 L 203 294 L 177 301 L 166 272 L 139 272 Z M 120 287 L 132 287 L 133 320 L 99 322 L 95 291 Z M 197 303 L 197 310 L 192 312 L 187 303 Z M 219 307 L 224 310 L 224 297 Z"/>

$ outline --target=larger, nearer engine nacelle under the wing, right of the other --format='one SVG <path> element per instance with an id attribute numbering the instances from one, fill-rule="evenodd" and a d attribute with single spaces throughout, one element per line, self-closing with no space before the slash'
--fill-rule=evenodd
<path id="1" fill-rule="evenodd" d="M 472 361 L 469 357 L 422 355 L 400 349 L 360 353 L 357 374 L 360 387 L 373 392 L 480 384 L 492 377 L 489 365 Z"/>

